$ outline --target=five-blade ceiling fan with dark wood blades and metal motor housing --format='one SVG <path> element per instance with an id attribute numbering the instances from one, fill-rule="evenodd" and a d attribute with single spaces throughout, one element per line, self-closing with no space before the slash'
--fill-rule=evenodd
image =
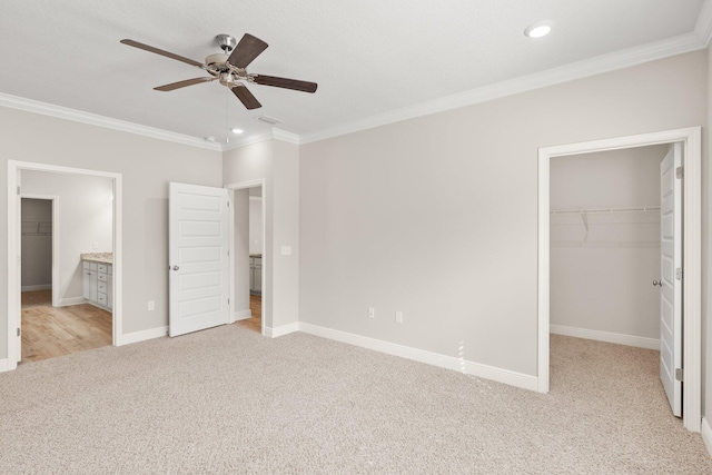
<path id="1" fill-rule="evenodd" d="M 166 58 L 186 62 L 190 66 L 198 67 L 210 75 L 208 77 L 187 79 L 185 81 L 172 82 L 170 85 L 154 88 L 157 91 L 172 91 L 175 89 L 185 88 L 187 86 L 217 80 L 220 81 L 222 86 L 229 88 L 247 109 L 257 109 L 261 107 L 261 103 L 259 103 L 257 98 L 255 98 L 249 89 L 245 87 L 244 82 L 250 82 L 261 86 L 274 86 L 277 88 L 293 89 L 304 92 L 316 91 L 316 82 L 299 81 L 296 79 L 277 78 L 275 76 L 264 76 L 247 72 L 247 66 L 253 62 L 253 60 L 268 47 L 268 44 L 259 38 L 253 37 L 249 33 L 245 33 L 239 43 L 237 42 L 237 40 L 235 40 L 234 37 L 229 34 L 218 34 L 217 37 L 215 37 L 215 39 L 222 49 L 222 52 L 208 56 L 205 59 L 205 63 L 200 63 L 198 61 L 194 61 L 192 59 L 185 58 L 172 52 L 164 51 L 161 49 L 154 48 L 138 41 L 125 39 L 121 40 L 121 42 L 134 48 L 165 56 Z"/>

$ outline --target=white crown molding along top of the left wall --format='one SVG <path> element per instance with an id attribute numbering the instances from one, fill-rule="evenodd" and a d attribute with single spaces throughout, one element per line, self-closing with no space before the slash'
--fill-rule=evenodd
<path id="1" fill-rule="evenodd" d="M 106 129 L 119 130 L 122 132 L 136 133 L 144 137 L 150 137 L 158 140 L 170 141 L 175 144 L 187 145 L 191 147 L 205 148 L 208 150 L 222 150 L 220 144 L 208 142 L 204 139 L 186 136 L 182 133 L 170 132 L 168 130 L 156 129 L 154 127 L 141 126 L 125 120 L 112 119 L 110 117 L 99 116 L 96 113 L 85 112 L 67 107 L 55 106 L 47 102 L 26 99 L 18 96 L 0 93 L 0 106 L 11 109 L 24 110 L 28 112 L 40 113 L 42 116 L 57 117 L 60 119 L 72 120 L 75 122 L 89 123 L 91 126 L 103 127 Z"/>

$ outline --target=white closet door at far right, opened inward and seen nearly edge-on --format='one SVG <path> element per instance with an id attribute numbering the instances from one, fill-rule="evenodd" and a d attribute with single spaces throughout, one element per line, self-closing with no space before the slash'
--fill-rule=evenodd
<path id="1" fill-rule="evenodd" d="M 660 379 L 672 412 L 682 416 L 682 146 L 673 144 L 660 164 Z M 680 168 L 682 170 L 682 168 Z"/>

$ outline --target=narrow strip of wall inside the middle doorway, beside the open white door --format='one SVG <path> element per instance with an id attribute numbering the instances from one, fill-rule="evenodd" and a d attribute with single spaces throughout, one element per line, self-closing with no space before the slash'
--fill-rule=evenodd
<path id="1" fill-rule="evenodd" d="M 249 190 L 235 190 L 233 195 L 234 214 L 234 266 L 235 277 L 233 287 L 235 291 L 235 304 L 233 311 L 236 318 L 243 318 L 249 310 L 249 246 L 250 246 L 250 199 Z"/>

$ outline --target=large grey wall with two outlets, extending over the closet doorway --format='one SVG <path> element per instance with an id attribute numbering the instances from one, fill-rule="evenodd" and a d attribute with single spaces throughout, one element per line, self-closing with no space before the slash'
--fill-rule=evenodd
<path id="1" fill-rule="evenodd" d="M 706 68 L 699 51 L 303 146 L 300 321 L 536 375 L 537 149 L 705 125 Z"/>

